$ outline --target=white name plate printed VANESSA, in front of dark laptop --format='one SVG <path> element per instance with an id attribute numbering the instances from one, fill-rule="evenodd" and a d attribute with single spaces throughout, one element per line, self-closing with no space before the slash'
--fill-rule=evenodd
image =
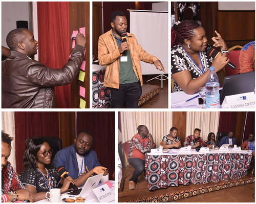
<path id="1" fill-rule="evenodd" d="M 254 92 L 226 96 L 222 107 L 228 108 L 255 108 Z"/>

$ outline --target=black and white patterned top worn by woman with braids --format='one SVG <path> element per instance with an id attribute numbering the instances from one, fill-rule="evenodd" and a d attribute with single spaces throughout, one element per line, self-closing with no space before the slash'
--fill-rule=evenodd
<path id="1" fill-rule="evenodd" d="M 199 69 L 198 65 L 194 62 L 193 59 L 190 58 L 190 56 L 180 46 L 180 44 L 178 44 L 177 46 L 174 46 L 170 54 L 171 54 L 170 70 L 172 74 L 189 70 L 191 77 L 193 79 L 203 74 L 203 72 Z M 204 72 L 206 72 L 209 69 L 212 62 L 214 61 L 214 59 L 212 57 L 209 57 L 205 51 L 199 52 L 199 55 L 202 62 L 203 70 Z M 173 77 L 172 77 L 172 80 L 174 82 L 173 92 L 182 91 L 181 87 L 175 82 Z"/>

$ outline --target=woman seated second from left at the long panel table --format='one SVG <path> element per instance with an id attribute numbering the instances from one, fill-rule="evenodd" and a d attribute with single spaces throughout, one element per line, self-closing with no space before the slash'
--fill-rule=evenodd
<path id="1" fill-rule="evenodd" d="M 163 149 L 180 149 L 181 142 L 178 135 L 178 129 L 176 127 L 170 128 L 170 134 L 163 137 L 162 146 Z"/>

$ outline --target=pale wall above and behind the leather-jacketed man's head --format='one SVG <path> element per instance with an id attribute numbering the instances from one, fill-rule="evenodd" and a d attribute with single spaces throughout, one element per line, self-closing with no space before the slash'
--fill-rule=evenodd
<path id="1" fill-rule="evenodd" d="M 32 32 L 31 2 L 2 2 L 2 46 L 7 47 L 7 34 L 16 29 L 17 20 L 27 20 Z"/>

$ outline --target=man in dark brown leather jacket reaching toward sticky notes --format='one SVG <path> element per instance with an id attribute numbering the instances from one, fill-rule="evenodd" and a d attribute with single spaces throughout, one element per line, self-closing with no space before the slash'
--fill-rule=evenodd
<path id="1" fill-rule="evenodd" d="M 62 69 L 32 60 L 38 42 L 28 29 L 12 30 L 6 38 L 11 56 L 2 62 L 2 108 L 57 108 L 54 86 L 69 84 L 77 75 L 87 40 L 76 36 L 76 46 Z"/>

